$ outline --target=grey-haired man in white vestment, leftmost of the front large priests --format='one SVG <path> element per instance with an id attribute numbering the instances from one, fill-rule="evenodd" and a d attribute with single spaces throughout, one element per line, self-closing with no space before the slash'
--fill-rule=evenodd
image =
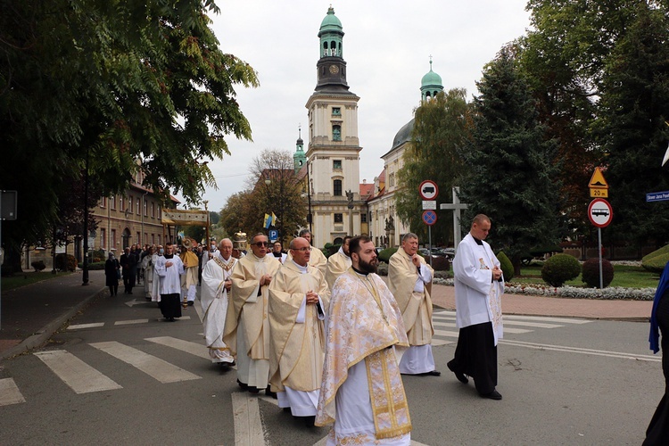
<path id="1" fill-rule="evenodd" d="M 211 261 L 202 269 L 200 301 L 204 314 L 204 341 L 209 348 L 211 362 L 224 366 L 235 362 L 230 349 L 223 342 L 223 329 L 226 325 L 228 293 L 232 288 L 230 276 L 236 261 L 232 256 L 232 241 L 224 238 L 220 241 L 219 251 L 214 252 Z"/>

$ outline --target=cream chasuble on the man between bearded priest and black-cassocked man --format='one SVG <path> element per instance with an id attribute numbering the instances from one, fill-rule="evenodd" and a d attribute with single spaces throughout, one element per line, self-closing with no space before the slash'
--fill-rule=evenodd
<path id="1" fill-rule="evenodd" d="M 434 277 L 434 269 L 418 256 L 421 265 L 430 269 Z M 407 328 L 409 345 L 426 345 L 432 343 L 434 326 L 432 321 L 432 282 L 424 284 L 424 292 L 414 291 L 418 280 L 416 265 L 411 262 L 409 254 L 400 247 L 392 254 L 388 266 L 388 288 L 400 306 L 404 326 Z"/>

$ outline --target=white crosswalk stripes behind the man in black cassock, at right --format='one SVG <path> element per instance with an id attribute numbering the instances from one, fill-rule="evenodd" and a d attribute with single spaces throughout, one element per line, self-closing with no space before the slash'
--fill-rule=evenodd
<path id="1" fill-rule="evenodd" d="M 458 341 L 458 327 L 455 325 L 455 311 L 434 311 L 434 336 L 432 345 L 447 345 Z M 554 329 L 563 326 L 587 324 L 587 319 L 549 318 L 543 316 L 504 315 L 504 333 L 508 335 L 524 335 L 536 329 Z M 450 329 L 449 329 L 450 328 Z"/>

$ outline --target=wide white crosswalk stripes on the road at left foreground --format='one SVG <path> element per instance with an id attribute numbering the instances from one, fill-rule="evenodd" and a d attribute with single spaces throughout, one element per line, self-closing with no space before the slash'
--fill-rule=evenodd
<path id="1" fill-rule="evenodd" d="M 166 346 L 177 351 L 186 352 L 198 359 L 211 361 L 207 348 L 203 343 L 194 343 L 171 336 L 145 338 L 145 341 Z M 177 383 L 201 379 L 183 368 L 116 341 L 89 343 L 97 351 L 102 351 L 114 359 L 128 364 L 133 368 L 151 376 L 161 384 Z M 70 351 L 49 350 L 37 351 L 33 355 L 39 359 L 54 376 L 77 394 L 105 392 L 122 389 L 123 386 L 110 377 L 105 376 L 93 365 L 79 359 Z M 0 379 L 0 407 L 27 402 L 13 378 Z"/>

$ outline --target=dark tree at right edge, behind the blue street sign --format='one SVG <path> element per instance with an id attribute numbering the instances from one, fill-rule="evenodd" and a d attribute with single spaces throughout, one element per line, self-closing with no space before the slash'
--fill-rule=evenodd
<path id="1" fill-rule="evenodd" d="M 640 246 L 669 242 L 669 209 L 646 202 L 648 192 L 665 191 L 661 167 L 669 140 L 669 42 L 666 11 L 639 4 L 635 19 L 616 42 L 602 82 L 598 136 L 608 153 L 606 178 L 615 240 Z M 659 205 L 658 205 L 659 204 Z"/>

